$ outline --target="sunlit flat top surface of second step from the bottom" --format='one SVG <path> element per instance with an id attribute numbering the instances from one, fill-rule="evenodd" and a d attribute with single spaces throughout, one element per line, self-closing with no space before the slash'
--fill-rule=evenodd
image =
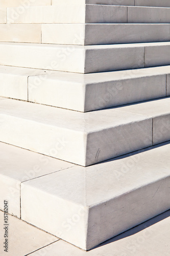
<path id="1" fill-rule="evenodd" d="M 169 98 L 167 102 L 170 102 Z M 4 100 L 0 102 L 0 105 L 1 115 L 14 116 L 16 118 L 27 119 L 45 125 L 58 126 L 61 129 L 82 133 L 91 133 L 102 129 L 109 129 L 112 126 L 145 120 L 149 116 L 128 114 L 118 109 L 81 113 L 12 99 Z M 162 106 L 162 109 L 159 110 L 160 113 L 170 112 L 170 109 L 167 109 L 163 102 L 160 102 L 160 105 Z"/>

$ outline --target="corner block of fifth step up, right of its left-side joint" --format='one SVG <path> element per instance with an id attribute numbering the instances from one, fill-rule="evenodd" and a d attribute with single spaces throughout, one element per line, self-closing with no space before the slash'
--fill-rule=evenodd
<path id="1" fill-rule="evenodd" d="M 8 35 L 11 38 L 10 31 Z M 169 40 L 169 24 L 42 24 L 42 43 L 46 44 L 107 45 Z"/>

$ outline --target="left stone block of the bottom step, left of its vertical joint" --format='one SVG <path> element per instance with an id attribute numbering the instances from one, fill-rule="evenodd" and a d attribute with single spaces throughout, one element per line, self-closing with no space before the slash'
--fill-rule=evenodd
<path id="1" fill-rule="evenodd" d="M 73 164 L 23 150 L 0 142 L 0 209 L 4 200 L 9 203 L 9 213 L 20 217 L 20 184 L 50 173 L 69 168 Z"/>

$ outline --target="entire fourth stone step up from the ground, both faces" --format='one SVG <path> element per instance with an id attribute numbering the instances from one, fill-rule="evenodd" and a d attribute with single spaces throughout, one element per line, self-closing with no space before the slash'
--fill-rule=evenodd
<path id="1" fill-rule="evenodd" d="M 0 42 L 0 65 L 95 73 L 170 64 L 170 42 L 71 46 Z"/>

